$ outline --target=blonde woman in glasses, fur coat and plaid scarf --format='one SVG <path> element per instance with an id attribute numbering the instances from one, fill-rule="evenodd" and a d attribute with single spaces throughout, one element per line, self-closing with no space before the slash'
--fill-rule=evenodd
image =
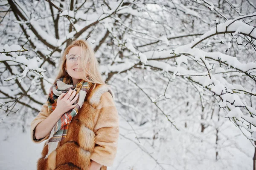
<path id="1" fill-rule="evenodd" d="M 106 170 L 113 164 L 119 117 L 113 92 L 85 41 L 65 49 L 48 99 L 31 122 L 31 138 L 47 140 L 38 170 Z"/>

